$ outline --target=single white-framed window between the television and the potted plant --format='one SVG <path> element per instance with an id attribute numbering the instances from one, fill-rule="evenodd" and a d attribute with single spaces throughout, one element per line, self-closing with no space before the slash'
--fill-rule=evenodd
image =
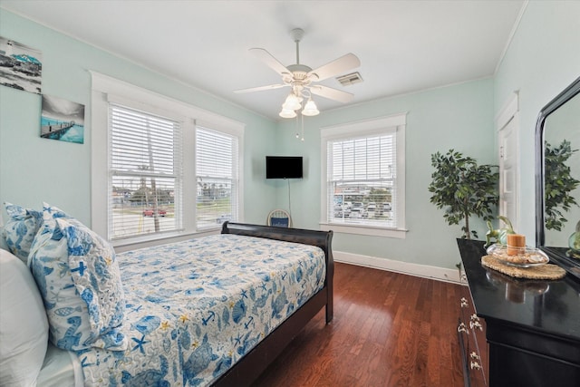
<path id="1" fill-rule="evenodd" d="M 405 115 L 324 128 L 324 228 L 404 237 Z"/>

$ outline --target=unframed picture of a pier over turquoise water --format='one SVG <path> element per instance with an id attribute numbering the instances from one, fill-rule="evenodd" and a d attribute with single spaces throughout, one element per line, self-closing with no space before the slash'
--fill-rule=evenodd
<path id="1" fill-rule="evenodd" d="M 43 94 L 40 137 L 84 143 L 84 105 Z"/>

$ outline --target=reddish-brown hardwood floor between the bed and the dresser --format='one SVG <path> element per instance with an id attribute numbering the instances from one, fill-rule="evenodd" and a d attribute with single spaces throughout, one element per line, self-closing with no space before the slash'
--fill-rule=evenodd
<path id="1" fill-rule="evenodd" d="M 460 285 L 337 263 L 333 322 L 317 314 L 255 386 L 462 386 L 459 298 Z"/>

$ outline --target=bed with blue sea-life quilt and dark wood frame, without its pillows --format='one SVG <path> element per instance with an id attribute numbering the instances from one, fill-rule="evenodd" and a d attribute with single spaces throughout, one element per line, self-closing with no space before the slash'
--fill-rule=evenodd
<path id="1" fill-rule="evenodd" d="M 249 385 L 315 314 L 325 308 L 332 321 L 332 237 L 226 222 L 216 236 L 117 255 L 126 309 L 114 337 L 124 336 L 126 345 L 119 339 L 112 350 L 93 344 L 63 351 L 49 344 L 39 385 L 74 385 L 75 378 L 85 385 Z M 210 266 L 191 267 L 186 253 Z M 216 276 L 219 270 L 228 275 Z M 218 295 L 222 288 L 234 295 Z"/>

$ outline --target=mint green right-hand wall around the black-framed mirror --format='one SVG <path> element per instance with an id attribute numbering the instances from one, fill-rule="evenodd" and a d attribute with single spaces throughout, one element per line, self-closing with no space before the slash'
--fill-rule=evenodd
<path id="1" fill-rule="evenodd" d="M 519 91 L 520 230 L 535 240 L 539 111 L 580 76 L 580 2 L 530 1 L 495 77 L 495 111 Z"/>

